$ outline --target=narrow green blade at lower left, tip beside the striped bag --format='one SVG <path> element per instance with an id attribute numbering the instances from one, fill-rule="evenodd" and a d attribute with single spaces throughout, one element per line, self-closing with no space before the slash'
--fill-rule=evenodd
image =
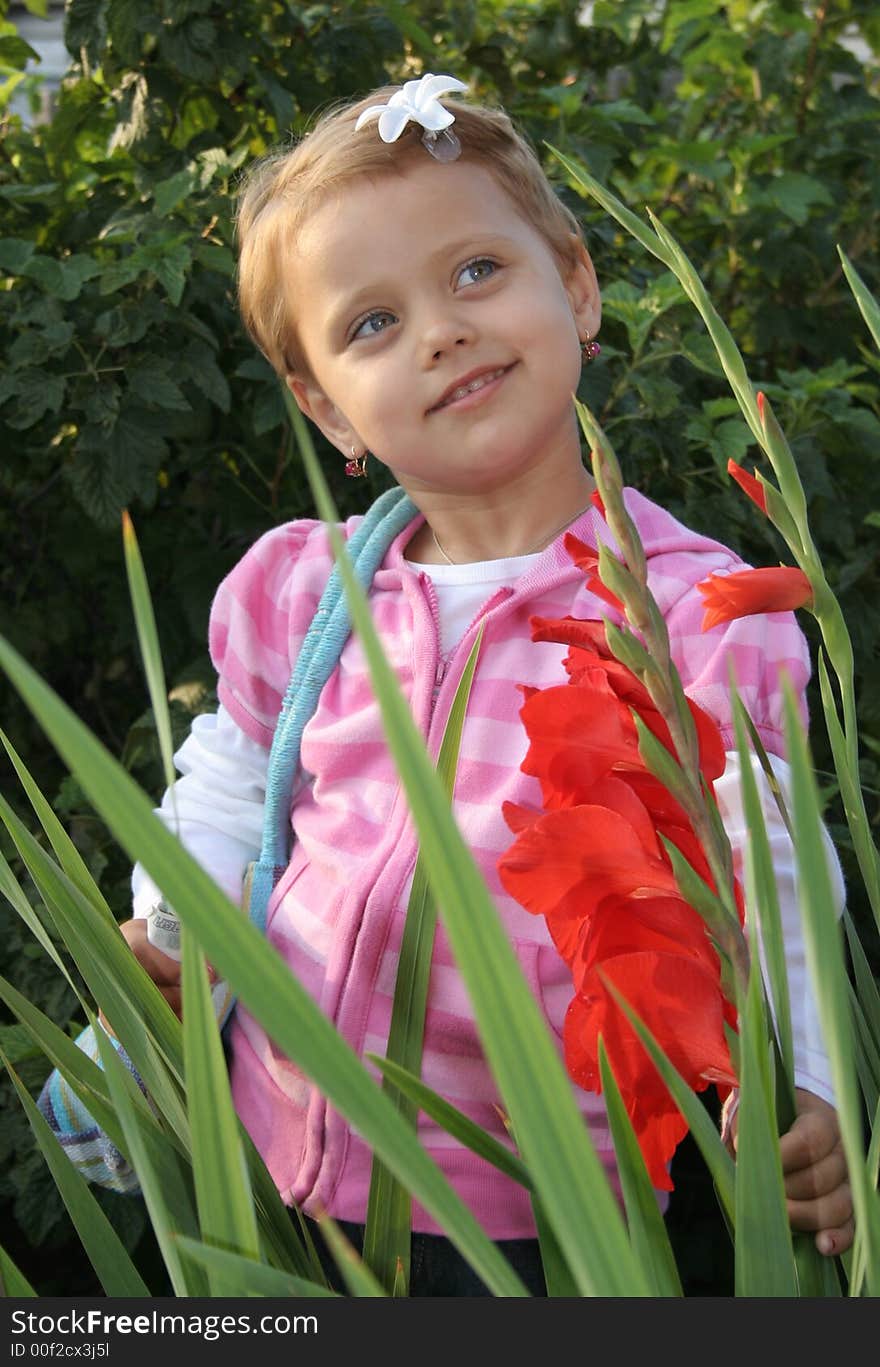
<path id="1" fill-rule="evenodd" d="M 169 1144 L 157 1143 L 154 1132 L 138 1122 L 126 1085 L 126 1069 L 109 1039 L 98 1031 L 101 1065 L 113 1106 L 126 1136 L 126 1148 L 138 1174 L 153 1233 L 176 1296 L 205 1296 L 208 1281 L 201 1270 L 184 1267 L 176 1234 L 198 1234 L 186 1170 Z M 128 1079 L 131 1080 L 131 1079 Z"/>

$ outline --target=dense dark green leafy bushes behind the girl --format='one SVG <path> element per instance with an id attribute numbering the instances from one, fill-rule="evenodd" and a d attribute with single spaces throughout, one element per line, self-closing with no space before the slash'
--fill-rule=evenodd
<path id="1" fill-rule="evenodd" d="M 537 148 L 547 139 L 581 157 L 635 212 L 650 205 L 700 267 L 798 458 L 853 633 L 862 776 L 877 815 L 880 362 L 836 254 L 839 243 L 877 293 L 876 4 L 240 0 L 231 11 L 216 0 L 70 0 L 70 71 L 37 127 L 8 113 L 12 92 L 36 93 L 38 81 L 14 18 L 0 3 L 0 632 L 149 791 L 163 783 L 122 509 L 138 530 L 180 733 L 213 703 L 205 636 L 216 585 L 262 530 L 313 511 L 276 379 L 235 312 L 236 180 L 333 100 L 440 70 L 501 103 Z M 775 563 L 775 533 L 726 476 L 728 457 L 752 466 L 757 452 L 690 305 L 547 164 L 585 223 L 603 284 L 603 354 L 583 394 L 629 483 L 752 563 Z M 373 469 L 368 488 L 353 488 L 339 454 L 324 454 L 344 513 L 387 485 Z M 0 707 L 124 919 L 127 865 L 16 696 L 4 689 Z M 816 759 L 846 864 L 831 763 L 821 749 Z M 853 910 L 870 947 L 868 919 Z M 67 1024 L 63 984 L 18 917 L 0 916 L 0 972 Z M 29 1061 L 19 1028 L 0 1024 L 0 1038 L 37 1089 L 45 1065 Z M 0 1105 L 4 1243 L 41 1293 L 90 1292 L 5 1083 Z M 686 1147 L 676 1163 L 670 1218 L 687 1243 L 683 1273 L 690 1264 L 691 1293 L 723 1293 L 705 1174 Z M 141 1204 L 102 1200 L 149 1263 Z"/>

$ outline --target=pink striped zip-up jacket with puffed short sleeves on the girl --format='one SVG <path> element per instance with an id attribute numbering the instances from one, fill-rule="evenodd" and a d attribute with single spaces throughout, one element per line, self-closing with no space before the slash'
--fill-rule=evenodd
<path id="1" fill-rule="evenodd" d="M 709 711 L 732 748 L 727 662 L 732 656 L 743 700 L 768 750 L 782 753 L 780 670 L 802 694 L 809 656 L 794 617 L 747 618 L 702 633 L 694 585 L 742 562 L 698 536 L 634 491 L 627 504 L 640 529 L 650 588 L 665 617 L 687 693 Z M 351 534 L 351 518 L 343 528 Z M 455 816 L 474 852 L 523 973 L 562 1051 L 570 976 L 541 917 L 501 889 L 499 856 L 511 843 L 506 800 L 540 807 L 536 779 L 522 774 L 526 735 L 518 685 L 564 679 L 564 648 L 534 644 L 532 617 L 614 615 L 586 588 L 562 539 L 510 588 L 481 608 L 448 659 L 439 651 L 437 606 L 429 577 L 403 555 L 421 518 L 394 541 L 370 592 L 373 619 L 413 716 L 436 755 L 448 707 L 478 625 L 482 649 L 465 722 Z M 571 530 L 589 544 L 611 543 L 590 510 Z M 242 730 L 271 745 L 291 664 L 332 567 L 320 522 L 298 521 L 266 533 L 221 584 L 210 619 L 219 696 Z M 310 782 L 295 787 L 295 843 L 275 889 L 268 935 L 301 984 L 358 1054 L 385 1048 L 398 950 L 417 854 L 406 798 L 385 748 L 361 642 L 351 637 L 322 690 L 302 741 Z M 443 927 L 437 928 L 425 1023 L 422 1076 L 477 1124 L 508 1143 L 496 1085 L 484 1061 L 473 1013 Z M 231 1079 L 238 1111 L 281 1196 L 362 1222 L 370 1151 L 309 1079 L 281 1057 L 242 1007 L 231 1032 Z M 614 1152 L 601 1098 L 575 1089 L 596 1148 L 614 1181 Z M 425 1115 L 420 1139 L 493 1239 L 534 1233 L 529 1196 L 495 1167 L 463 1150 Z M 418 1206 L 413 1228 L 437 1232 Z"/>

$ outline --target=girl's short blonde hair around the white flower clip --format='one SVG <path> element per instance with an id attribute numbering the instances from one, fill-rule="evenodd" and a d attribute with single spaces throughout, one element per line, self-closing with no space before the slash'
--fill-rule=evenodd
<path id="1" fill-rule="evenodd" d="M 426 159 L 422 128 L 407 124 L 396 142 L 383 142 L 374 123 L 354 131 L 358 115 L 387 101 L 399 86 L 383 86 L 363 100 L 328 109 L 292 148 L 277 148 L 243 178 L 236 213 L 238 299 L 250 336 L 280 376 L 302 370 L 297 358 L 295 301 L 283 288 L 284 261 L 297 228 L 325 195 L 359 176 L 404 175 Z M 560 273 L 578 261 L 581 226 L 556 197 L 541 165 L 503 109 L 444 97 L 455 115 L 463 163 L 484 167 L 523 219 L 542 234 Z M 440 172 L 440 167 L 437 167 Z"/>

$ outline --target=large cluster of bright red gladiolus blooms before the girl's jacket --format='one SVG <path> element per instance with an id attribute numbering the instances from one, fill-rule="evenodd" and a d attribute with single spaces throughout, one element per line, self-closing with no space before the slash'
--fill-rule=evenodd
<path id="1" fill-rule="evenodd" d="M 596 552 L 573 536 L 566 548 L 589 588 L 611 601 Z M 633 714 L 672 752 L 668 727 L 646 688 L 612 655 L 603 623 L 534 618 L 532 634 L 568 647 L 568 681 L 523 689 L 529 750 L 522 768 L 541 785 L 542 811 L 504 805 L 515 838 L 499 860 L 499 876 L 521 906 L 544 916 L 571 969 L 574 995 L 563 1027 L 570 1076 L 601 1091 L 601 1038 L 650 1178 L 671 1189 L 667 1165 L 687 1125 L 611 987 L 689 1085 L 700 1091 L 713 1083 L 726 1094 L 735 1076 L 724 1027 L 735 1029 L 735 1007 L 721 990 L 705 921 L 682 897 L 660 837 L 715 884 L 685 809 L 638 753 Z M 708 714 L 689 705 L 711 790 L 724 771 L 723 741 Z M 742 921 L 738 883 L 734 895 Z"/>

